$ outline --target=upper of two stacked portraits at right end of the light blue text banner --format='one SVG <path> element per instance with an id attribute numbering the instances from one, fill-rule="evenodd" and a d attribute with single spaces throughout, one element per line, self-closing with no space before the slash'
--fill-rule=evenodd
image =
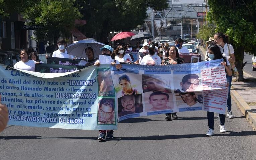
<path id="1" fill-rule="evenodd" d="M 114 97 L 114 84 L 110 69 L 97 69 L 97 80 L 99 87 L 98 97 Z"/>

